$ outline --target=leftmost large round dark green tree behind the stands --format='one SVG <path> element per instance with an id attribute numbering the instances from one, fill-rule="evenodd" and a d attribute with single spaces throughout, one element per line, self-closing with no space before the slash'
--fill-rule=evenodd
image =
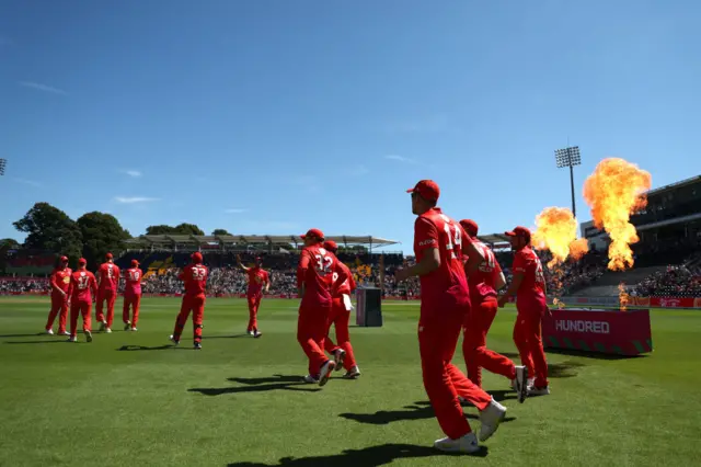
<path id="1" fill-rule="evenodd" d="M 26 234 L 23 247 L 65 254 L 77 261 L 83 249 L 80 228 L 66 213 L 48 203 L 36 203 L 20 220 L 12 224 Z"/>

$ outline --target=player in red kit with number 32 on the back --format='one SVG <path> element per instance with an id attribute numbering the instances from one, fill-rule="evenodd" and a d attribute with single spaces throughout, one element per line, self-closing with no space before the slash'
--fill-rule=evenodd
<path id="1" fill-rule="evenodd" d="M 348 275 L 340 266 L 341 262 L 335 254 L 323 248 L 324 235 L 321 230 L 310 229 L 301 237 L 304 248 L 297 267 L 297 288 L 302 298 L 297 320 L 297 341 L 309 358 L 309 375 L 304 380 L 324 386 L 336 367 L 335 362 L 329 360 L 323 351 L 332 296 Z M 330 286 L 329 276 L 334 272 L 338 277 Z"/>

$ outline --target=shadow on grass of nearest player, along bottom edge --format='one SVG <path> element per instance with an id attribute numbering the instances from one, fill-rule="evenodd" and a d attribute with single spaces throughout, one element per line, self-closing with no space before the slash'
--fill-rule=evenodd
<path id="1" fill-rule="evenodd" d="M 489 449 L 480 446 L 480 451 L 472 454 L 474 457 L 486 457 Z M 278 464 L 261 463 L 232 463 L 228 467 L 379 467 L 391 464 L 395 459 L 460 456 L 460 454 L 444 454 L 429 446 L 416 446 L 413 444 L 382 444 L 379 446 L 364 447 L 361 449 L 345 449 L 341 454 L 310 457 L 283 457 Z M 462 454 L 462 456 L 468 457 Z"/>

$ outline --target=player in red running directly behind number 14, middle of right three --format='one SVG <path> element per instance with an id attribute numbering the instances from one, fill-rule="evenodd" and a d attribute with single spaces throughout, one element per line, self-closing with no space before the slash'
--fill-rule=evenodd
<path id="1" fill-rule="evenodd" d="M 486 334 L 498 309 L 496 292 L 506 284 L 504 273 L 494 252 L 478 240 L 476 223 L 463 219 L 460 220 L 460 225 L 470 236 L 472 244 L 481 250 L 484 257 L 484 261 L 475 270 L 467 271 L 471 307 L 464 322 L 462 355 L 468 365 L 468 378 L 482 387 L 482 367 L 505 376 L 513 381 L 518 392 L 518 401 L 522 403 L 528 395 L 528 369 L 514 365 L 506 356 L 486 348 Z"/>

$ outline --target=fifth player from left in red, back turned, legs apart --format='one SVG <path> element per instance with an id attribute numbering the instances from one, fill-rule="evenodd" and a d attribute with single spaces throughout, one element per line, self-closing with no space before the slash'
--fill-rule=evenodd
<path id="1" fill-rule="evenodd" d="M 183 305 L 175 319 L 175 329 L 170 339 L 175 345 L 180 343 L 185 322 L 187 322 L 187 317 L 192 312 L 195 349 L 199 350 L 202 349 L 202 322 L 205 317 L 205 291 L 209 270 L 202 264 L 202 253 L 195 252 L 191 259 L 192 262 L 183 269 L 179 276 L 185 283 L 185 295 L 183 295 Z"/>

